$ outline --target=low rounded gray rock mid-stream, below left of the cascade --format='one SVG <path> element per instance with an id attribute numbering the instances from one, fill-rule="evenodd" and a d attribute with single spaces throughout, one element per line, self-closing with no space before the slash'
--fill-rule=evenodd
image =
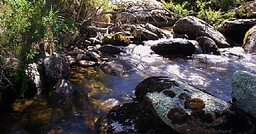
<path id="1" fill-rule="evenodd" d="M 104 73 L 115 76 L 128 76 L 134 70 L 131 63 L 121 59 L 104 63 L 100 68 Z"/>

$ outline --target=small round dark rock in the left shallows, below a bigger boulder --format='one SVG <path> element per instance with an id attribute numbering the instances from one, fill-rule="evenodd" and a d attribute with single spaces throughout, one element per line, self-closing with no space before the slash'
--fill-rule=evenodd
<path id="1" fill-rule="evenodd" d="M 65 80 L 65 79 L 58 80 L 54 88 L 55 88 L 55 93 L 57 93 L 60 96 L 67 96 L 67 97 L 71 96 L 74 91 L 73 85 L 68 80 Z"/>

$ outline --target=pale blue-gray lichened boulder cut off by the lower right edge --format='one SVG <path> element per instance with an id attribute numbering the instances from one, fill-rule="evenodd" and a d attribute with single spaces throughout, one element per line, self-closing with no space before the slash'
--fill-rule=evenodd
<path id="1" fill-rule="evenodd" d="M 232 77 L 233 103 L 256 118 L 256 74 L 236 71 Z"/>

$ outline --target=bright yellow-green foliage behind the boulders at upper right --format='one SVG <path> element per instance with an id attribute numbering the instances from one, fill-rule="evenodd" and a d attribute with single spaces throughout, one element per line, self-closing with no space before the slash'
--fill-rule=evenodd
<path id="1" fill-rule="evenodd" d="M 200 19 L 207 20 L 213 26 L 218 26 L 225 19 L 233 19 L 236 14 L 234 11 L 227 11 L 236 3 L 234 0 L 208 2 L 196 0 L 196 3 L 195 1 L 170 1 L 166 3 L 162 0 L 162 2 L 168 10 L 179 15 L 186 16 L 188 13 L 196 12 Z"/>

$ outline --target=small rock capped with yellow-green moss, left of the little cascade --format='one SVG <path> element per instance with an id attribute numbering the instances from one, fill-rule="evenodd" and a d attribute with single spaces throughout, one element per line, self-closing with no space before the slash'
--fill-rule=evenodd
<path id="1" fill-rule="evenodd" d="M 103 45 L 128 46 L 130 41 L 122 34 L 110 34 L 102 38 Z"/>

